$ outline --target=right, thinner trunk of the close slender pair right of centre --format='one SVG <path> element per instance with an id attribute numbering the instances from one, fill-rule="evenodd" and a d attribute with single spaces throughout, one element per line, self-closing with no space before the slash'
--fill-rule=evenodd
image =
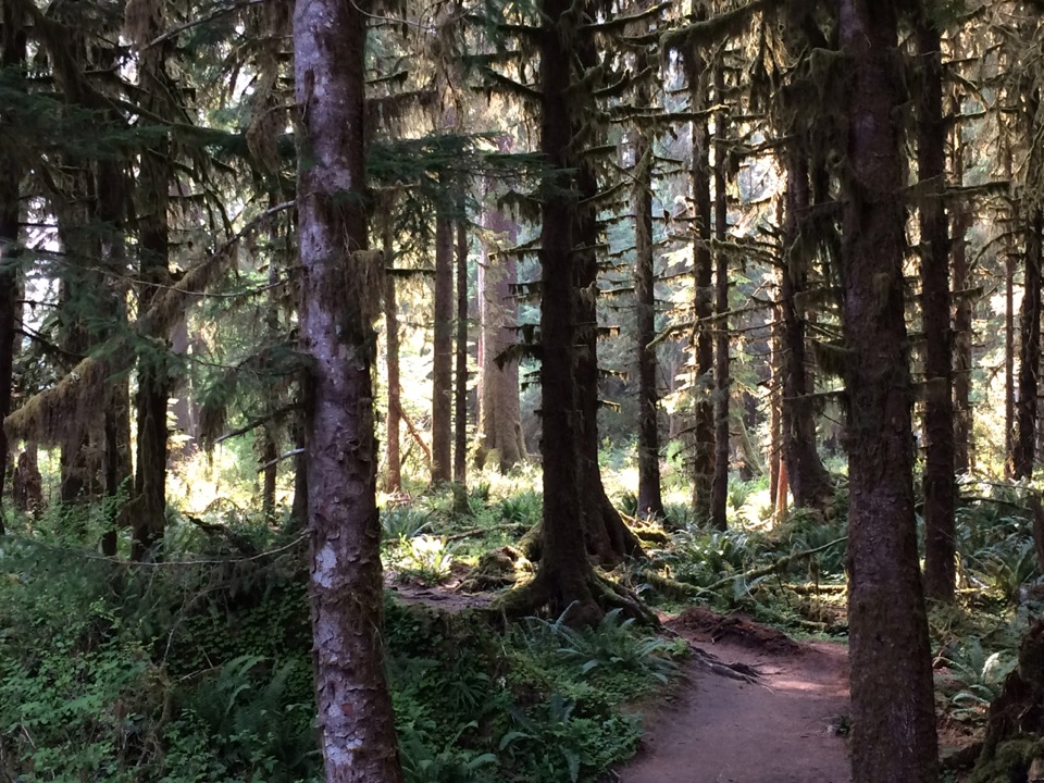
<path id="1" fill-rule="evenodd" d="M 714 67 L 714 98 L 724 105 L 724 70 Z M 723 244 L 729 229 L 729 199 L 725 191 L 725 128 L 729 117 L 724 111 L 714 116 L 714 239 Z M 732 378 L 729 368 L 729 254 L 721 249 L 714 260 L 714 475 L 710 492 L 710 522 L 718 530 L 729 526 L 729 398 Z"/>

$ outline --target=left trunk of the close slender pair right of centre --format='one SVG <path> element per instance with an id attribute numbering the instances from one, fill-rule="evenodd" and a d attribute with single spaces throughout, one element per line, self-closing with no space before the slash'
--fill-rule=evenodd
<path id="1" fill-rule="evenodd" d="M 707 98 L 706 63 L 698 57 L 686 61 L 689 104 L 693 112 L 704 110 Z M 714 477 L 714 406 L 711 396 L 714 372 L 714 338 L 710 316 L 713 313 L 713 257 L 710 252 L 711 201 L 710 134 L 707 117 L 692 123 L 693 133 L 693 264 L 695 275 L 694 314 L 696 327 L 696 382 L 693 389 L 693 511 L 697 519 L 710 520 L 710 494 Z"/>

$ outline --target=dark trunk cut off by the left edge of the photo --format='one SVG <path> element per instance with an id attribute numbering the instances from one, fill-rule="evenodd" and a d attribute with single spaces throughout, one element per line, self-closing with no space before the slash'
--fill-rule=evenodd
<path id="1" fill-rule="evenodd" d="M 20 73 L 25 64 L 26 36 L 21 15 L 11 3 L 2 3 L 0 29 L 0 67 L 8 78 Z M 0 134 L 12 121 L 0 110 Z M 14 339 L 17 328 L 18 298 L 18 228 L 21 210 L 22 162 L 14 147 L 0 145 L 0 420 L 11 412 L 11 376 L 14 363 Z M 0 501 L 3 499 L 8 470 L 8 436 L 0 427 Z M 3 534 L 0 515 L 0 535 Z"/>

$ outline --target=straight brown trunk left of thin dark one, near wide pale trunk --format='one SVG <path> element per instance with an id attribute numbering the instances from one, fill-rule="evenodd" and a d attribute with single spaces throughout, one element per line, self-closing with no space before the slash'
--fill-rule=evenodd
<path id="1" fill-rule="evenodd" d="M 453 410 L 453 223 L 435 219 L 435 336 L 432 358 L 432 483 L 448 482 Z"/>

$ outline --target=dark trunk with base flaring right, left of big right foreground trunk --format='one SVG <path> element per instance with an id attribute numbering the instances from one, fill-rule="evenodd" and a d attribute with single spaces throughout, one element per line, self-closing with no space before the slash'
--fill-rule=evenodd
<path id="1" fill-rule="evenodd" d="M 806 314 L 800 298 L 808 289 L 809 240 L 805 224 L 809 211 L 808 161 L 798 149 L 786 152 L 784 236 L 786 258 L 780 275 L 780 448 L 786 462 L 791 492 L 798 507 L 823 510 L 833 489 L 819 458 L 815 408 L 809 399 Z"/>

